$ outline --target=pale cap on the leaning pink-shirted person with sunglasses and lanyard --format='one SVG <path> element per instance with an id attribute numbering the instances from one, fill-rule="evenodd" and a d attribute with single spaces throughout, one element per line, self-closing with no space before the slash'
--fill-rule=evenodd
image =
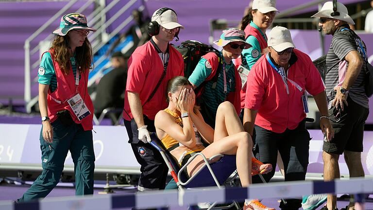
<path id="1" fill-rule="evenodd" d="M 282 26 L 272 28 L 268 34 L 268 47 L 272 47 L 276 52 L 281 52 L 288 48 L 295 48 L 291 39 L 290 31 Z"/>

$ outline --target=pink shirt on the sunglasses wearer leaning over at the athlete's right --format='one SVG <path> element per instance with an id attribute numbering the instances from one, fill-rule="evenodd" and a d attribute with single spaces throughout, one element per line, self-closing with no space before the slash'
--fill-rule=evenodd
<path id="1" fill-rule="evenodd" d="M 311 95 L 324 91 L 320 73 L 310 57 L 297 49 L 293 52 L 287 77 Z M 266 56 L 254 64 L 246 84 L 245 108 L 258 110 L 256 125 L 282 133 L 287 128 L 295 129 L 306 117 L 303 92 L 288 81 L 288 94 L 281 75 L 271 67 Z"/>

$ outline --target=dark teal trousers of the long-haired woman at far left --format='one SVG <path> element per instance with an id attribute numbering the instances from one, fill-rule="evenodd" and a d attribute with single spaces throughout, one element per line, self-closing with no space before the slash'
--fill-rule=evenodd
<path id="1" fill-rule="evenodd" d="M 68 151 L 74 162 L 75 194 L 93 194 L 95 154 L 92 131 L 85 131 L 80 124 L 63 125 L 58 119 L 51 123 L 53 142 L 43 139 L 40 131 L 40 149 L 43 172 L 34 181 L 18 202 L 30 201 L 47 196 L 60 180 Z"/>

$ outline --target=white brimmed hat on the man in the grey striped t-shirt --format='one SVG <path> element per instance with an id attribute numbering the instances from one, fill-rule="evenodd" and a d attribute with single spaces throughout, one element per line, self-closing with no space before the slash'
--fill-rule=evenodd
<path id="1" fill-rule="evenodd" d="M 331 16 L 333 13 L 333 1 L 327 1 L 322 5 L 320 12 L 311 16 L 311 18 L 333 18 L 355 25 L 354 20 L 348 15 L 348 10 L 345 5 L 337 2 L 337 12 L 339 12 L 339 16 Z"/>

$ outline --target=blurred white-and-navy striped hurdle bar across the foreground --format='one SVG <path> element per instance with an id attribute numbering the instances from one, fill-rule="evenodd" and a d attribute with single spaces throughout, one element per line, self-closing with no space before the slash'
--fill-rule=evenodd
<path id="1" fill-rule="evenodd" d="M 334 181 L 289 181 L 253 184 L 247 188 L 207 188 L 186 191 L 104 194 L 53 197 L 33 202 L 0 202 L 1 210 L 116 210 L 193 206 L 200 202 L 226 203 L 246 198 L 294 198 L 321 193 L 373 193 L 373 179 L 351 178 Z"/>

